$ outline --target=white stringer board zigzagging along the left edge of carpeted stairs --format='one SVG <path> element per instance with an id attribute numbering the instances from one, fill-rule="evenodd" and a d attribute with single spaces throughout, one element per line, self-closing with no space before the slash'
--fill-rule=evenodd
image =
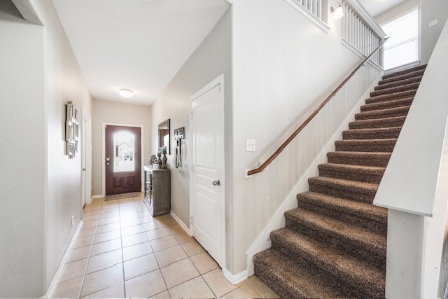
<path id="1" fill-rule="evenodd" d="M 293 190 L 286 196 L 286 199 L 283 200 L 280 207 L 275 211 L 274 216 L 272 216 L 271 220 L 265 226 L 265 229 L 262 230 L 260 235 L 255 239 L 255 241 L 251 244 L 247 254 L 247 275 L 253 275 L 253 256 L 261 252 L 263 250 L 269 249 L 271 246 L 270 233 L 273 230 L 278 230 L 280 228 L 284 228 L 286 221 L 284 213 L 290 209 L 295 209 L 297 207 L 297 194 L 303 193 L 309 190 L 308 179 L 312 176 L 318 176 L 318 168 L 319 164 L 325 163 L 327 160 L 327 153 L 330 151 L 335 151 L 335 141 L 342 139 L 342 131 L 347 130 L 349 127 L 349 123 L 353 121 L 354 115 L 359 113 L 360 106 L 365 104 L 365 99 L 370 97 L 370 92 L 374 90 L 374 87 L 378 84 L 378 81 L 381 80 L 381 76 L 378 76 L 374 83 L 370 85 L 370 88 L 367 89 L 367 92 L 361 97 L 358 103 L 353 107 L 350 111 L 349 115 L 346 117 L 342 125 L 340 125 L 335 134 L 328 140 L 327 144 L 322 148 L 322 151 L 318 153 L 316 159 L 311 163 L 308 167 L 307 171 L 300 177 L 297 184 L 293 187 Z"/>

